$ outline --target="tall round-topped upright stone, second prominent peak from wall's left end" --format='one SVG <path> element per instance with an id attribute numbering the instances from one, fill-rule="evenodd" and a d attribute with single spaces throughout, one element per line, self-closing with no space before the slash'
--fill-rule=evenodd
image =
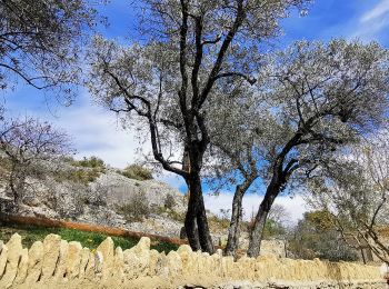
<path id="1" fill-rule="evenodd" d="M 50 233 L 43 240 L 43 262 L 41 279 L 52 278 L 56 271 L 59 251 L 61 247 L 61 237 Z"/>

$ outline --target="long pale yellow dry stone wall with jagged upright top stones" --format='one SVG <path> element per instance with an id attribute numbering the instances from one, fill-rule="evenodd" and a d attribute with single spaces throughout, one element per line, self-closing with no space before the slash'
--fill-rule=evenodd
<path id="1" fill-rule="evenodd" d="M 141 238 L 128 250 L 107 238 L 96 250 L 49 235 L 22 248 L 0 241 L 0 288 L 382 288 L 379 269 L 348 262 L 263 256 L 233 261 L 182 245 L 168 255 Z"/>

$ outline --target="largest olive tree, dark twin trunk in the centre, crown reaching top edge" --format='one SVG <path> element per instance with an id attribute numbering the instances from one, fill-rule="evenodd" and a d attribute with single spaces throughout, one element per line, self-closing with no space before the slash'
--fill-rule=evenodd
<path id="1" fill-rule="evenodd" d="M 94 41 L 90 90 L 146 129 L 153 158 L 186 180 L 184 226 L 194 250 L 213 251 L 200 178 L 211 139 L 211 103 L 256 82 L 260 41 L 276 36 L 278 20 L 303 2 L 144 0 L 146 40 L 128 46 Z M 189 156 L 188 169 L 182 168 L 183 155 Z"/>

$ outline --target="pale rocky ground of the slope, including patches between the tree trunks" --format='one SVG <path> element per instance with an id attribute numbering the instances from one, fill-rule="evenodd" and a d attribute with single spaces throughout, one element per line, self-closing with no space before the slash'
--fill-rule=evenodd
<path id="1" fill-rule="evenodd" d="M 69 165 L 62 167 L 71 169 Z M 141 218 L 128 218 L 120 208 L 133 202 L 137 196 L 141 196 L 147 202 L 149 211 Z M 166 208 L 168 198 L 173 202 Z M 29 179 L 24 205 L 20 211 L 23 216 L 71 220 L 179 238 L 186 206 L 186 196 L 164 182 L 130 179 L 117 169 L 107 168 L 96 179 L 86 183 L 52 177 Z M 9 211 L 11 207 L 12 195 L 7 190 L 7 183 L 0 180 L 0 211 Z M 137 206 L 134 207 L 137 209 Z M 211 213 L 209 217 L 215 245 L 225 245 L 228 221 L 221 221 Z M 248 247 L 247 240 L 247 233 L 242 232 L 242 250 Z M 269 246 L 267 243 L 268 241 L 263 242 L 263 247 L 269 247 L 265 251 L 285 256 L 283 242 L 271 241 Z"/>

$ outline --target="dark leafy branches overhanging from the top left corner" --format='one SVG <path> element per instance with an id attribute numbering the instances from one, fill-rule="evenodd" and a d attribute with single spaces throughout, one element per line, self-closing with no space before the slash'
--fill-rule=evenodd
<path id="1" fill-rule="evenodd" d="M 14 86 L 19 78 L 71 99 L 70 88 L 81 72 L 76 64 L 83 36 L 94 16 L 83 0 L 1 0 L 0 89 Z"/>

